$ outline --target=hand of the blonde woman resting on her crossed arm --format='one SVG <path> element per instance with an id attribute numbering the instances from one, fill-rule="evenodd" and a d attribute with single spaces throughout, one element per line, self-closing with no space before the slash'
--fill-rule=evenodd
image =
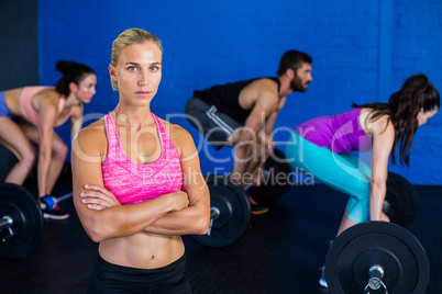
<path id="1" fill-rule="evenodd" d="M 89 210 L 101 211 L 121 205 L 117 197 L 103 186 L 86 184 L 85 189 L 87 191 L 80 193 L 81 203 Z"/>

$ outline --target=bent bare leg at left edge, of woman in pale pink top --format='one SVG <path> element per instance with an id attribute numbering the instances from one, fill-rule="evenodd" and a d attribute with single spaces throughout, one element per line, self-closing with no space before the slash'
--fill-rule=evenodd
<path id="1" fill-rule="evenodd" d="M 35 165 L 35 149 L 20 127 L 8 116 L 0 117 L 0 144 L 18 159 L 4 181 L 22 185 Z"/>

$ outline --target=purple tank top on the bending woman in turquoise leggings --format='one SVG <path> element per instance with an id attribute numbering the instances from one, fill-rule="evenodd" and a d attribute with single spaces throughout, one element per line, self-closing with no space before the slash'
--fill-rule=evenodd
<path id="1" fill-rule="evenodd" d="M 371 151 L 372 138 L 362 129 L 358 120 L 362 110 L 354 109 L 336 115 L 316 117 L 298 125 L 296 131 L 308 142 L 335 154 Z"/>

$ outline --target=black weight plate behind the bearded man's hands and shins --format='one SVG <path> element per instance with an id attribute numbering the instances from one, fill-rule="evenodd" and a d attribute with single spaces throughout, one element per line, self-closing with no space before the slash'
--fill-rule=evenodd
<path id="1" fill-rule="evenodd" d="M 292 169 L 285 154 L 276 148 L 266 160 L 264 169 L 269 172 L 269 177 L 263 177 L 263 183 L 250 188 L 247 193 L 261 203 L 268 203 L 284 195 L 290 188 Z"/>

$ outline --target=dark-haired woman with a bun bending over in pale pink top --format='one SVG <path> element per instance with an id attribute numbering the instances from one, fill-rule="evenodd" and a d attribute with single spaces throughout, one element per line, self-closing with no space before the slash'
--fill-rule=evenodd
<path id="1" fill-rule="evenodd" d="M 93 70 L 74 61 L 57 61 L 63 74 L 55 87 L 23 87 L 0 92 L 0 144 L 18 158 L 4 179 L 22 185 L 37 161 L 38 202 L 43 216 L 65 219 L 69 214 L 59 210 L 51 196 L 62 172 L 68 148 L 54 127 L 70 117 L 73 136 L 81 128 L 82 103 L 96 93 Z M 35 152 L 32 143 L 38 146 Z"/>

